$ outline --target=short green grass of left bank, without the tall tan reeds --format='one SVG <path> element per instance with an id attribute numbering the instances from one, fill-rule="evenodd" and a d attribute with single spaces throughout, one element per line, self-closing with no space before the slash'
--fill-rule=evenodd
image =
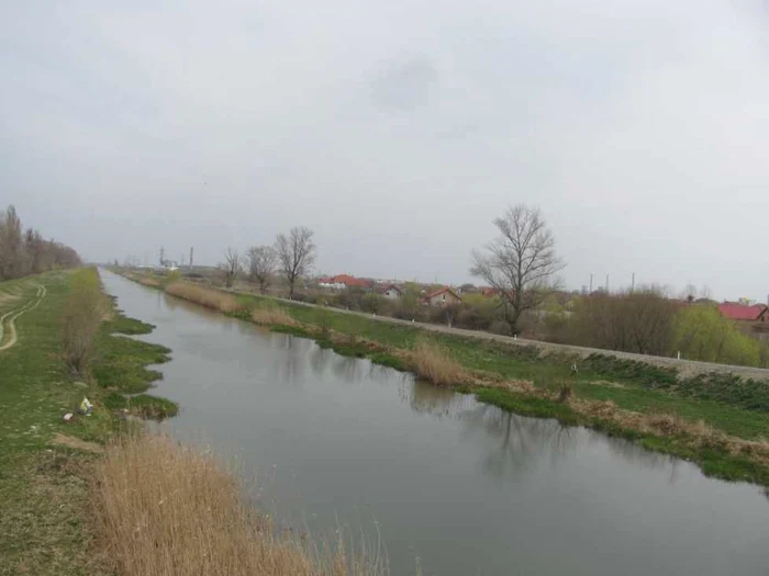
<path id="1" fill-rule="evenodd" d="M 89 474 L 99 458 L 99 443 L 131 426 L 104 403 L 112 395 L 130 392 L 122 387 L 123 382 L 134 383 L 135 391 L 146 389 L 157 374 L 146 371 L 145 364 L 167 358 L 161 347 L 114 337 L 152 327 L 111 315 L 111 319 L 100 321 L 93 338 L 92 372 L 73 374 L 63 358 L 63 316 L 74 286 L 83 279 L 98 282 L 96 271 L 81 270 L 0 283 L 0 310 L 32 297 L 36 284 L 47 291 L 36 308 L 18 318 L 16 345 L 0 352 L 3 575 L 104 569 L 105 558 L 93 553 Z M 109 380 L 100 380 L 108 374 Z M 83 396 L 96 404 L 92 416 L 64 422 L 63 415 L 75 413 Z"/>

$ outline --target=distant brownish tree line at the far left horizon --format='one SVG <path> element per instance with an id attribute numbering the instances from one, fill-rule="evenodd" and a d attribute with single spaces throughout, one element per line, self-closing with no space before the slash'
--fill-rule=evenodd
<path id="1" fill-rule="evenodd" d="M 0 280 L 38 274 L 55 268 L 73 268 L 80 263 L 80 257 L 73 248 L 44 239 L 40 230 L 24 229 L 12 205 L 0 215 Z"/>

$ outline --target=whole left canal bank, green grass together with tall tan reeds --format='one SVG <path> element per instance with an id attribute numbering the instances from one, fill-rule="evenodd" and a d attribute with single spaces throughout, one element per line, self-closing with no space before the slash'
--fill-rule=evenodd
<path id="1" fill-rule="evenodd" d="M 124 409 L 176 413 L 163 398 L 124 396 L 157 380 L 146 365 L 169 351 L 116 336 L 152 326 L 94 291 L 94 270 L 0 283 L 0 316 L 37 284 L 47 296 L 19 318 L 16 346 L 0 352 L 0 575 L 381 573 L 381 558 L 342 542 L 313 546 L 274 531 L 211 455 L 122 419 Z M 92 415 L 64 422 L 83 396 Z"/>

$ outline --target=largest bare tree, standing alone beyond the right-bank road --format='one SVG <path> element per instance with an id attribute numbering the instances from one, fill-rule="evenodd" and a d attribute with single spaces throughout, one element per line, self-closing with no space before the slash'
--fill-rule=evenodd
<path id="1" fill-rule="evenodd" d="M 472 251 L 470 273 L 495 289 L 513 334 L 525 310 L 536 308 L 555 290 L 555 274 L 566 264 L 538 208 L 519 204 L 494 219 L 500 236 L 484 251 Z"/>

